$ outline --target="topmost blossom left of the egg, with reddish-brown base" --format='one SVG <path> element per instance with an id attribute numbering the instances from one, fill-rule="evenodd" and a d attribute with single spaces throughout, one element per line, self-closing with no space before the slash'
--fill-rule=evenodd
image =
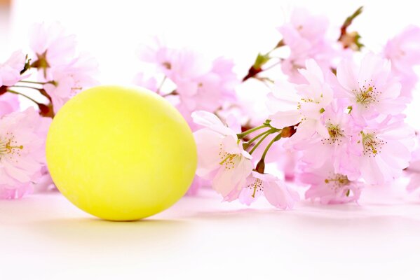
<path id="1" fill-rule="evenodd" d="M 51 67 L 67 64 L 74 59 L 76 36 L 67 35 L 58 22 L 49 26 L 37 23 L 29 31 L 29 45 L 36 55 L 32 65 L 39 68 L 41 77 L 48 81 L 51 80 Z"/>

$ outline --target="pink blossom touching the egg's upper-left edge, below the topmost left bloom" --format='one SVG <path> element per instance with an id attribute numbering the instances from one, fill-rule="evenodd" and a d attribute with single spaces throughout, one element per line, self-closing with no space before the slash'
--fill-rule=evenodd
<path id="1" fill-rule="evenodd" d="M 97 62 L 88 56 L 73 59 L 69 64 L 51 68 L 51 82 L 43 87 L 53 100 L 54 112 L 57 111 L 74 95 L 87 87 L 97 84 L 93 78 L 97 71 Z"/>

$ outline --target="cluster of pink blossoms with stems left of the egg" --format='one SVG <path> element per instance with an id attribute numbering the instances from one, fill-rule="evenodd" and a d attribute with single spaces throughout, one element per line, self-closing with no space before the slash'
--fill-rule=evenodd
<path id="1" fill-rule="evenodd" d="M 30 54 L 18 50 L 0 63 L 1 199 L 53 188 L 45 159 L 51 118 L 75 94 L 96 83 L 95 60 L 76 55 L 75 36 L 59 24 L 34 25 L 29 34 Z M 23 108 L 23 99 L 33 106 Z"/>

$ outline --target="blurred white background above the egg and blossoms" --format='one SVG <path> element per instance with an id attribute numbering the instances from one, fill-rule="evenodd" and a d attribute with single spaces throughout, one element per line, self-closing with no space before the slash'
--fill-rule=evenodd
<path id="1" fill-rule="evenodd" d="M 136 50 L 159 36 L 172 46 L 189 46 L 210 57 L 234 59 L 238 75 L 244 76 L 257 52 L 275 45 L 293 6 L 327 15 L 339 26 L 359 6 L 365 6 L 351 30 L 357 30 L 368 50 L 380 51 L 388 38 L 410 24 L 420 25 L 412 1 L 53 1 L 0 0 L 0 61 L 13 50 L 28 49 L 28 30 L 34 22 L 59 21 L 76 34 L 79 50 L 90 52 L 100 66 L 104 84 L 130 84 L 140 68 Z M 333 36 L 336 36 L 332 34 Z M 241 90 L 241 89 L 240 89 Z M 261 87 L 248 84 L 248 91 Z M 255 97 L 255 95 L 254 95 Z M 254 98 L 253 97 L 253 98 Z M 420 127 L 414 98 L 407 110 L 409 123 Z"/>

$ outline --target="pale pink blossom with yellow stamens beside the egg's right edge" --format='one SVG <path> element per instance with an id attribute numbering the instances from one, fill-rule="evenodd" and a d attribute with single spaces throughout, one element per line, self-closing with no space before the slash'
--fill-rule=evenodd
<path id="1" fill-rule="evenodd" d="M 205 127 L 194 132 L 198 151 L 196 174 L 212 179 L 212 188 L 224 200 L 235 200 L 252 171 L 251 155 L 244 151 L 236 133 L 217 116 L 196 111 L 192 118 L 196 124 Z"/>

